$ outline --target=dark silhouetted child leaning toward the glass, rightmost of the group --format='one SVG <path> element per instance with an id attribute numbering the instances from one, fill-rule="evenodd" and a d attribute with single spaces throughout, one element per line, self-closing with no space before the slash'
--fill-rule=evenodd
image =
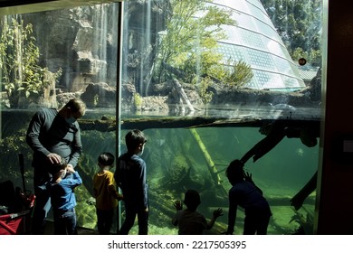
<path id="1" fill-rule="evenodd" d="M 253 183 L 252 175 L 243 172 L 243 162 L 234 160 L 226 169 L 229 183 L 228 230 L 234 233 L 234 224 L 238 205 L 245 211 L 243 224 L 244 235 L 266 235 L 272 212 L 269 203 L 262 196 L 262 190 Z"/>

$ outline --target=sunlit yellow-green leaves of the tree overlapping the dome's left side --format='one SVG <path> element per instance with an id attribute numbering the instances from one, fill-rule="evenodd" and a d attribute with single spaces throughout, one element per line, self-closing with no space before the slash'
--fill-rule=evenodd
<path id="1" fill-rule="evenodd" d="M 231 14 L 206 5 L 203 0 L 172 1 L 173 14 L 167 23 L 167 31 L 163 35 L 159 47 L 159 62 L 166 62 L 186 73 L 205 70 L 200 65 L 210 65 L 211 57 L 205 54 L 215 53 L 217 40 L 224 38 L 222 24 L 234 24 Z M 220 60 L 219 57 L 218 61 Z M 212 62 L 217 64 L 218 61 Z M 157 63 L 157 67 L 161 66 Z M 165 72 L 157 68 L 158 80 L 165 79 Z M 189 76 L 190 79 L 190 76 Z"/>

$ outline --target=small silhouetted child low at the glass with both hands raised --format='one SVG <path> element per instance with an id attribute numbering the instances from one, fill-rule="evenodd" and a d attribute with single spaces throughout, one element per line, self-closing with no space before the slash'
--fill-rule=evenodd
<path id="1" fill-rule="evenodd" d="M 200 194 L 195 190 L 187 190 L 184 203 L 186 210 L 183 210 L 181 201 L 175 201 L 176 216 L 172 220 L 174 226 L 178 226 L 179 235 L 202 235 L 204 230 L 211 230 L 215 225 L 215 220 L 222 216 L 222 209 L 214 211 L 212 219 L 207 222 L 205 216 L 196 211 L 201 203 Z"/>

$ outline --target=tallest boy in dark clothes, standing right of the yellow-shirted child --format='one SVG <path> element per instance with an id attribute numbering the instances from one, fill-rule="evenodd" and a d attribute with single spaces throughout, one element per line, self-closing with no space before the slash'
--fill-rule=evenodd
<path id="1" fill-rule="evenodd" d="M 148 185 L 146 163 L 142 155 L 147 138 L 142 131 L 134 129 L 125 136 L 128 151 L 120 155 L 114 178 L 124 196 L 125 220 L 119 234 L 128 235 L 138 215 L 138 234 L 148 234 Z"/>

